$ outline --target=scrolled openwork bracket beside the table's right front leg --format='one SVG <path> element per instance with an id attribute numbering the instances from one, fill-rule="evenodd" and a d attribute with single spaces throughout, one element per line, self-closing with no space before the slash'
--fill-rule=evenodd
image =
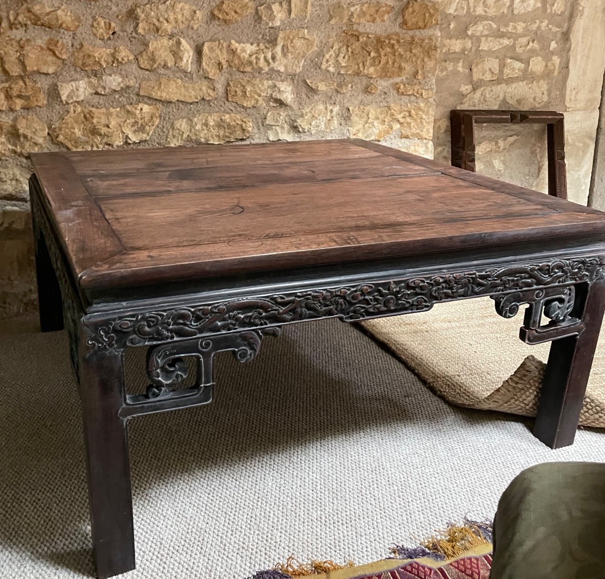
<path id="1" fill-rule="evenodd" d="M 526 344 L 542 344 L 567 336 L 578 335 L 584 329 L 581 319 L 572 316 L 575 301 L 574 286 L 554 286 L 492 296 L 495 310 L 503 318 L 517 315 L 527 305 L 519 338 Z M 550 322 L 541 325 L 542 316 Z"/>

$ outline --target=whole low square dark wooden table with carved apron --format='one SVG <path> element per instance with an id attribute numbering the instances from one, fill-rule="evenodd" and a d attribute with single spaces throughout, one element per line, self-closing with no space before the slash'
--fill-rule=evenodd
<path id="1" fill-rule="evenodd" d="M 99 577 L 134 569 L 128 419 L 207 404 L 215 353 L 249 361 L 283 324 L 527 304 L 520 338 L 553 341 L 534 434 L 573 442 L 605 214 L 359 140 L 31 157 L 41 324 L 70 336 Z M 126 392 L 129 347 L 148 348 L 145 394 Z"/>

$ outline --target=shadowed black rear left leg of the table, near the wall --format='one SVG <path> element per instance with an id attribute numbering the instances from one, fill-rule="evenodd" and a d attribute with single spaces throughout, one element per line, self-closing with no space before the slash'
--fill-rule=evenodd
<path id="1" fill-rule="evenodd" d="M 36 231 L 36 224 L 34 224 Z M 63 303 L 57 275 L 48 255 L 48 247 L 41 231 L 36 231 L 36 277 L 38 278 L 38 308 L 42 332 L 63 329 Z"/>

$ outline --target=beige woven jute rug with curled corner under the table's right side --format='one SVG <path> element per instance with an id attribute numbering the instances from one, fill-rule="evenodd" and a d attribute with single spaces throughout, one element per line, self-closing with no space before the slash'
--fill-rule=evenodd
<path id="1" fill-rule="evenodd" d="M 448 402 L 535 416 L 549 344 L 518 339 L 523 313 L 501 318 L 490 298 L 439 304 L 430 312 L 364 322 Z M 605 325 L 580 424 L 605 428 Z"/>

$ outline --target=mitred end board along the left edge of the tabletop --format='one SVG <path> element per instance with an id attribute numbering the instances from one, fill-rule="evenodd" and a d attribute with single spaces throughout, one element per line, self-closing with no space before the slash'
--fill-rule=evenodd
<path id="1" fill-rule="evenodd" d="M 33 153 L 30 159 L 76 277 L 125 250 L 65 155 Z"/>

